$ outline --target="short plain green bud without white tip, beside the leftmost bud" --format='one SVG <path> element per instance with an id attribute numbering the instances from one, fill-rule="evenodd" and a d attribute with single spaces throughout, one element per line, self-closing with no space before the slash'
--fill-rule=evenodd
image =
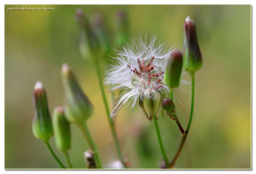
<path id="1" fill-rule="evenodd" d="M 57 148 L 66 152 L 71 146 L 70 125 L 65 118 L 64 108 L 55 107 L 52 113 L 54 139 Z"/>

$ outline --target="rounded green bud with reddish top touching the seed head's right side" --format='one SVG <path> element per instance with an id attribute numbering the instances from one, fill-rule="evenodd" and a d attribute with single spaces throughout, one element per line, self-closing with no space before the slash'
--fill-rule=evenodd
<path id="1" fill-rule="evenodd" d="M 164 74 L 164 83 L 170 88 L 178 88 L 182 71 L 182 54 L 179 50 L 172 53 Z"/>

